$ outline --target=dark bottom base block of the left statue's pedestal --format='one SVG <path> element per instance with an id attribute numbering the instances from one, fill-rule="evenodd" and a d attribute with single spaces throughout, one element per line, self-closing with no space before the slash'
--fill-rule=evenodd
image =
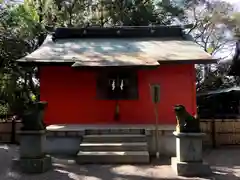
<path id="1" fill-rule="evenodd" d="M 14 159 L 13 164 L 23 173 L 44 173 L 52 168 L 52 158 L 45 156 L 39 159 Z"/>

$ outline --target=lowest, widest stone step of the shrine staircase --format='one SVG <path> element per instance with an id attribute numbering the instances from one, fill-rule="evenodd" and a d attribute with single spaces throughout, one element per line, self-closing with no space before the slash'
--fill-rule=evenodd
<path id="1" fill-rule="evenodd" d="M 149 153 L 147 151 L 79 151 L 76 162 L 78 164 L 149 163 Z"/>

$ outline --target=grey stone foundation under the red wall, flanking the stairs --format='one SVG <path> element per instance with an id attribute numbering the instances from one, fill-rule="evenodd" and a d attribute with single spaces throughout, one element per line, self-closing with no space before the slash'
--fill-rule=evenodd
<path id="1" fill-rule="evenodd" d="M 156 140 L 154 125 L 52 125 L 47 127 L 47 140 L 45 151 L 48 154 L 68 154 L 76 155 L 79 150 L 79 145 L 85 133 L 91 131 L 121 131 L 122 133 L 135 132 L 138 129 L 143 129 L 143 133 L 147 135 L 148 151 L 151 156 L 156 155 Z M 158 149 L 160 155 L 176 156 L 176 140 L 172 134 L 175 130 L 175 125 L 159 125 L 158 127 L 159 143 Z M 86 131 L 87 130 L 87 131 Z M 96 133 L 96 132 L 95 132 Z M 63 144 L 65 144 L 63 146 Z"/>

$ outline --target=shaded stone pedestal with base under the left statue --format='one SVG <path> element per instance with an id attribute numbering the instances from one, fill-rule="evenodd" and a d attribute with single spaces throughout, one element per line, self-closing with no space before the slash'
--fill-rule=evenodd
<path id="1" fill-rule="evenodd" d="M 51 169 L 51 157 L 45 154 L 46 131 L 21 131 L 20 158 L 14 163 L 25 173 L 43 173 Z"/>

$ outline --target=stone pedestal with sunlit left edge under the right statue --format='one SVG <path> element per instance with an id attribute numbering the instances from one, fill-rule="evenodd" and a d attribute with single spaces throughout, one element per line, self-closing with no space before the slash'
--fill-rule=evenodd
<path id="1" fill-rule="evenodd" d="M 202 139 L 204 133 L 178 133 L 176 137 L 176 156 L 171 159 L 172 168 L 179 176 L 201 177 L 212 174 L 210 166 L 203 163 Z"/>

